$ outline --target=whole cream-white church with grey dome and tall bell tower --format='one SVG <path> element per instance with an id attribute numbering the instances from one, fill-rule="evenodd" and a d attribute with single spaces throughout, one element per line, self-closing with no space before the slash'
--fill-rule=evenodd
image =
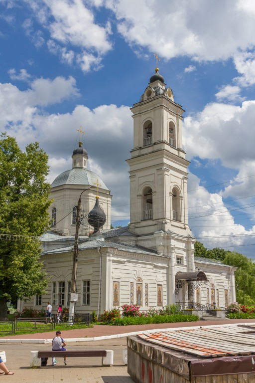
<path id="1" fill-rule="evenodd" d="M 182 147 L 181 105 L 156 68 L 133 113 L 133 149 L 127 160 L 130 224 L 111 229 L 110 190 L 87 169 L 79 143 L 72 169 L 52 183 L 52 230 L 42 237 L 41 260 L 50 281 L 43 296 L 24 306 L 67 306 L 71 289 L 78 199 L 83 222 L 99 196 L 106 221 L 100 231 L 81 224 L 77 261 L 77 313 L 134 304 L 140 311 L 179 303 L 181 307 L 225 308 L 236 301 L 235 267 L 194 257 L 188 224 L 187 167 Z"/>

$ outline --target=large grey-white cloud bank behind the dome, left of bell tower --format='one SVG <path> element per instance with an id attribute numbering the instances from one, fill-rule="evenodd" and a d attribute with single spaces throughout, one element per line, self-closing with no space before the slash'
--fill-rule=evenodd
<path id="1" fill-rule="evenodd" d="M 84 126 L 83 139 L 89 155 L 88 168 L 102 177 L 114 195 L 113 215 L 129 215 L 128 165 L 132 147 L 132 119 L 128 106 L 101 105 L 90 110 L 77 105 L 71 113 L 47 114 L 41 106 L 77 94 L 72 77 L 34 80 L 20 91 L 11 84 L 0 84 L 0 131 L 16 137 L 21 148 L 38 141 L 49 155 L 52 182 L 71 168 L 71 156 L 78 146 L 76 129 Z M 128 202 L 127 202 L 128 201 Z M 121 205 L 121 206 L 120 206 Z"/>

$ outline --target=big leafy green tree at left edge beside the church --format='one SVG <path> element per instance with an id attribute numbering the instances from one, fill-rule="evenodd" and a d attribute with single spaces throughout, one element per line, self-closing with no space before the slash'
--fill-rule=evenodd
<path id="1" fill-rule="evenodd" d="M 38 237 L 49 226 L 48 156 L 39 144 L 22 152 L 16 140 L 0 136 L 0 320 L 7 302 L 40 295 L 47 286 Z M 4 234 L 4 235 L 3 235 Z"/>

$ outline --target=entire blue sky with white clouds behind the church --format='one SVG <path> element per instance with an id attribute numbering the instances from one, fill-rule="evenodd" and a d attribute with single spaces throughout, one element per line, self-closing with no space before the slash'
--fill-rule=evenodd
<path id="1" fill-rule="evenodd" d="M 48 181 L 88 168 L 129 221 L 130 107 L 154 73 L 185 109 L 189 225 L 207 248 L 255 259 L 254 0 L 0 0 L 0 132 L 38 141 Z"/>

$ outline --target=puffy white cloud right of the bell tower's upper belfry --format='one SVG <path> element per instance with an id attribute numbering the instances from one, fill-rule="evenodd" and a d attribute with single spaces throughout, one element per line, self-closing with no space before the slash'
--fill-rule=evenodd
<path id="1" fill-rule="evenodd" d="M 242 106 L 212 103 L 184 121 L 185 151 L 192 158 L 221 159 L 226 167 L 239 169 L 242 161 L 255 158 L 255 101 Z"/>

